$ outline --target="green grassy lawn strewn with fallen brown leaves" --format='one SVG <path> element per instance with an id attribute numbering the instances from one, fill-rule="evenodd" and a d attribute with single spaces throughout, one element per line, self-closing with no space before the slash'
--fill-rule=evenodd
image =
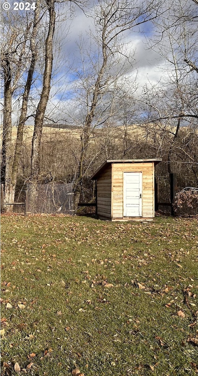
<path id="1" fill-rule="evenodd" d="M 2 374 L 198 373 L 197 220 L 2 215 L 1 262 Z"/>

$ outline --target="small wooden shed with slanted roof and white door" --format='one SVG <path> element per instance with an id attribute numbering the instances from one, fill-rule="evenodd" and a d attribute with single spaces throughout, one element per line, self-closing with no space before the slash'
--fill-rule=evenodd
<path id="1" fill-rule="evenodd" d="M 111 221 L 152 220 L 154 166 L 161 159 L 107 160 L 91 176 L 96 180 L 96 212 Z"/>

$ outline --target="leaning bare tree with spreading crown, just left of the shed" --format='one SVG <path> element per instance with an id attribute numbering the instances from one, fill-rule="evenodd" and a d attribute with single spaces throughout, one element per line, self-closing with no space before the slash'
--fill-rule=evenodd
<path id="1" fill-rule="evenodd" d="M 143 5 L 141 1 L 135 0 L 105 0 L 94 6 L 95 33 L 90 35 L 90 52 L 82 52 L 83 64 L 79 69 L 83 71 L 79 79 L 84 87 L 84 107 L 81 107 L 81 156 L 75 181 L 76 202 L 79 200 L 82 178 L 87 171 L 85 159 L 92 131 L 115 113 L 114 99 L 119 92 L 118 83 L 121 84 L 125 79 L 129 66 L 131 70 L 132 59 L 125 50 L 124 37 L 130 30 L 138 30 L 140 25 L 157 18 L 159 5 L 160 2 L 153 1 Z M 89 56 L 92 79 L 87 74 L 85 55 Z"/>

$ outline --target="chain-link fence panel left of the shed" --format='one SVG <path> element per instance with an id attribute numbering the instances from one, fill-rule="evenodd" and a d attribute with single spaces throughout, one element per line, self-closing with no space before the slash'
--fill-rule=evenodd
<path id="1" fill-rule="evenodd" d="M 26 191 L 26 214 L 74 214 L 72 184 L 28 183 Z"/>

